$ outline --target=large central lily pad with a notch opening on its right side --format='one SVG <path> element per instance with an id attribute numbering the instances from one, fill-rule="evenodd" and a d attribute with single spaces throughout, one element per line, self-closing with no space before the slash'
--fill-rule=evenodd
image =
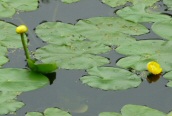
<path id="1" fill-rule="evenodd" d="M 100 43 L 79 41 L 65 46 L 55 44 L 44 46 L 36 50 L 35 57 L 43 63 L 56 62 L 64 69 L 88 69 L 109 63 L 108 59 L 96 54 L 110 50 L 110 47 Z"/>

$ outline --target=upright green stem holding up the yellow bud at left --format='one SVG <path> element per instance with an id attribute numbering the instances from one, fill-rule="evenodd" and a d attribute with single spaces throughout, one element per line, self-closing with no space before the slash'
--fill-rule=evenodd
<path id="1" fill-rule="evenodd" d="M 24 48 L 24 51 L 25 51 L 26 59 L 30 59 L 28 46 L 27 46 L 27 44 L 26 44 L 26 42 L 24 40 L 24 33 L 21 33 L 20 36 L 21 36 L 21 41 L 22 41 L 23 48 Z"/>

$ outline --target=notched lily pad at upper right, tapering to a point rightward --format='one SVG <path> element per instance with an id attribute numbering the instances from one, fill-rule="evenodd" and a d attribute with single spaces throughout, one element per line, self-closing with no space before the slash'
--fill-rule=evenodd
<path id="1" fill-rule="evenodd" d="M 171 17 L 159 12 L 148 11 L 145 4 L 137 4 L 132 7 L 125 7 L 117 11 L 117 15 L 133 22 L 158 22 L 170 20 Z"/>

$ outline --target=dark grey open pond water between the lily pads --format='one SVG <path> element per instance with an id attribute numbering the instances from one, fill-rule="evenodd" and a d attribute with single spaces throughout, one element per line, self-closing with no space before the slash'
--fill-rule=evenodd
<path id="1" fill-rule="evenodd" d="M 161 3 L 159 3 L 161 4 Z M 120 7 L 118 7 L 120 8 Z M 60 0 L 42 0 L 39 8 L 33 12 L 16 14 L 12 19 L 4 19 L 15 25 L 24 23 L 29 27 L 29 49 L 45 45 L 35 34 L 34 29 L 44 21 L 62 21 L 75 24 L 79 19 L 96 16 L 114 16 L 116 8 L 111 8 L 100 0 L 81 0 L 78 3 L 64 4 Z M 164 10 L 164 9 L 162 9 Z M 165 11 L 164 11 L 165 12 Z M 150 25 L 147 25 L 150 27 Z M 159 38 L 153 33 L 137 37 L 138 39 Z M 115 51 L 102 54 L 110 59 L 106 66 L 115 66 L 116 61 L 123 57 Z M 10 62 L 4 67 L 24 68 L 26 65 L 23 50 L 11 51 Z M 17 116 L 24 116 L 26 112 L 43 112 L 48 107 L 58 107 L 69 111 L 73 116 L 98 116 L 100 112 L 120 112 L 126 104 L 146 105 L 148 107 L 168 113 L 172 110 L 172 89 L 166 87 L 167 80 L 160 78 L 155 83 L 143 80 L 137 88 L 122 91 L 103 91 L 84 85 L 79 80 L 86 75 L 85 70 L 62 70 L 56 72 L 56 79 L 52 85 L 23 92 L 18 96 L 25 106 L 16 112 Z M 7 116 L 13 116 L 9 114 Z"/>

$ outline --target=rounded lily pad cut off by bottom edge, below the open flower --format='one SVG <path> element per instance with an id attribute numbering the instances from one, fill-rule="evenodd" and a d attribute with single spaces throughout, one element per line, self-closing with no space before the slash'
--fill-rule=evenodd
<path id="1" fill-rule="evenodd" d="M 146 107 L 146 106 L 140 106 L 140 105 L 132 105 L 128 104 L 125 105 L 121 109 L 122 116 L 166 116 L 165 113 L 160 112 L 158 110 Z"/>

